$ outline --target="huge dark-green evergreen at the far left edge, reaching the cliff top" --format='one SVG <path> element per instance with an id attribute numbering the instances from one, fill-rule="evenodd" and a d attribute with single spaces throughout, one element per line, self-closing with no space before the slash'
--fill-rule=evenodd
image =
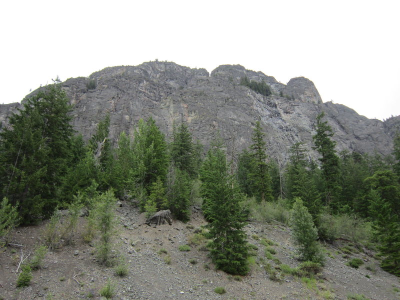
<path id="1" fill-rule="evenodd" d="M 23 103 L 0 132 L 0 197 L 25 223 L 48 217 L 71 161 L 71 107 L 58 79 Z"/>

